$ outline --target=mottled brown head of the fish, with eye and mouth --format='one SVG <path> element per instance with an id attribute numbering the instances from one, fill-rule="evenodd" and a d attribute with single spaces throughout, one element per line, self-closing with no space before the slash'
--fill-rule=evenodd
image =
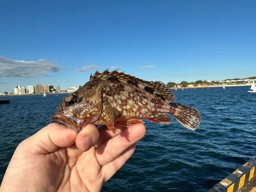
<path id="1" fill-rule="evenodd" d="M 101 89 L 100 86 L 82 86 L 62 99 L 62 103 L 50 120 L 65 124 L 78 134 L 88 123 L 100 117 Z"/>

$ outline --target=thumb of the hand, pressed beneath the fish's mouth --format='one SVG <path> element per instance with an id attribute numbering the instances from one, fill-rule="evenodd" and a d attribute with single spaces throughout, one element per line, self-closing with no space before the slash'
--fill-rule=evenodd
<path id="1" fill-rule="evenodd" d="M 75 140 L 76 134 L 73 130 L 68 129 L 65 125 L 51 123 L 25 139 L 18 147 L 27 147 L 27 155 L 28 153 L 49 154 L 57 150 L 58 147 L 72 145 Z"/>

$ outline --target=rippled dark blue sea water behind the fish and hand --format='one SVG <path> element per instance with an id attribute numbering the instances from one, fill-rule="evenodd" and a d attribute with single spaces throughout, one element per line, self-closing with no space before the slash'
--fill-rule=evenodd
<path id="1" fill-rule="evenodd" d="M 256 94 L 250 87 L 174 91 L 175 102 L 197 108 L 196 131 L 146 121 L 134 155 L 102 191 L 207 191 L 256 158 Z M 0 181 L 16 146 L 48 125 L 66 95 L 0 97 Z"/>

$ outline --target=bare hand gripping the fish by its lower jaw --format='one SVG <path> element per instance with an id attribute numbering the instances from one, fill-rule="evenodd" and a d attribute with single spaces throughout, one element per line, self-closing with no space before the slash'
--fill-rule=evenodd
<path id="1" fill-rule="evenodd" d="M 115 130 L 49 124 L 18 145 L 0 191 L 100 191 L 145 135 L 144 125 Z"/>

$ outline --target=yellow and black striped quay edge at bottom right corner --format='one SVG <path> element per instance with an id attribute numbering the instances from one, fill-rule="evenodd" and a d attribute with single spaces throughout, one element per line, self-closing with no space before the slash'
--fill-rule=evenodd
<path id="1" fill-rule="evenodd" d="M 244 184 L 256 177 L 256 160 L 251 159 L 232 174 L 213 186 L 208 192 L 236 192 Z"/>

